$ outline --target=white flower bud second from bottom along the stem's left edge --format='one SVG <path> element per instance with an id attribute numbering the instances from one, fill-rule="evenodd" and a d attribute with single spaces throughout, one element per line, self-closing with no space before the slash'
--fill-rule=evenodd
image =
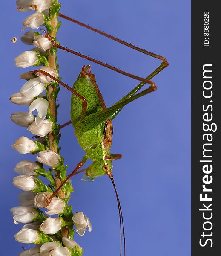
<path id="1" fill-rule="evenodd" d="M 37 230 L 32 230 L 29 228 L 21 229 L 17 234 L 14 235 L 14 238 L 17 242 L 25 244 L 34 243 L 40 239 Z"/>

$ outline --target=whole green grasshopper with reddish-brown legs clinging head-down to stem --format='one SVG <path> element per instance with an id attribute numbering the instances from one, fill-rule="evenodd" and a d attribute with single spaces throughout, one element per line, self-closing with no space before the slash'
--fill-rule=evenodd
<path id="1" fill-rule="evenodd" d="M 92 28 L 84 23 L 80 23 L 79 21 L 76 21 L 65 15 L 59 14 L 59 16 L 66 18 L 68 20 L 71 20 L 81 26 L 84 26 L 102 35 L 105 35 L 111 38 L 112 40 L 120 42 L 121 44 L 124 44 L 140 52 L 143 52 L 147 55 L 150 55 L 154 58 L 158 58 L 162 60 L 162 63 L 160 64 L 160 66 L 157 67 L 149 76 L 147 76 L 146 79 L 144 79 L 144 78 L 126 73 L 122 70 L 119 70 L 101 61 L 97 61 L 81 53 L 75 52 L 59 44 L 56 44 L 53 38 L 49 35 L 49 33 L 46 33 L 43 30 L 46 33 L 45 36 L 52 42 L 52 45 L 54 47 L 71 52 L 75 55 L 86 58 L 89 61 L 93 61 L 102 66 L 108 67 L 112 70 L 122 73 L 123 75 L 129 76 L 141 81 L 126 96 L 124 96 L 122 99 L 120 99 L 118 102 L 116 102 L 114 105 L 112 105 L 109 108 L 106 108 L 103 96 L 101 95 L 98 85 L 96 84 L 95 75 L 91 73 L 89 65 L 87 65 L 86 67 L 85 66 L 82 67 L 82 70 L 79 76 L 77 77 L 77 80 L 75 81 L 72 88 L 69 87 L 67 84 L 64 84 L 62 81 L 54 78 L 49 73 L 46 73 L 43 70 L 34 71 L 36 75 L 39 75 L 39 73 L 43 73 L 44 75 L 49 76 L 50 78 L 54 79 L 63 87 L 66 87 L 69 91 L 72 92 L 70 122 L 72 122 L 72 125 L 75 128 L 75 135 L 78 139 L 79 145 L 81 146 L 81 148 L 83 148 L 83 150 L 86 151 L 86 154 L 83 156 L 82 160 L 77 164 L 73 172 L 66 177 L 66 179 L 60 184 L 57 190 L 52 194 L 47 204 L 50 204 L 52 198 L 62 188 L 62 186 L 66 183 L 66 181 L 69 180 L 69 178 L 72 177 L 73 175 L 81 172 L 81 171 L 77 172 L 77 170 L 80 169 L 83 166 L 83 164 L 86 163 L 87 160 L 92 159 L 93 163 L 88 168 L 82 170 L 82 171 L 85 171 L 84 178 L 85 180 L 92 181 L 96 177 L 100 177 L 103 175 L 108 175 L 110 177 L 112 184 L 114 186 L 116 198 L 118 201 L 120 229 L 121 229 L 121 221 L 122 221 L 123 239 L 124 239 L 124 255 L 125 255 L 125 234 L 124 234 L 123 215 L 122 215 L 121 205 L 120 205 L 118 193 L 115 187 L 113 174 L 112 174 L 112 168 L 113 168 L 112 161 L 116 159 L 120 159 L 121 154 L 111 154 L 110 152 L 111 145 L 112 145 L 112 133 L 113 133 L 112 120 L 118 115 L 118 113 L 121 111 L 121 109 L 125 105 L 129 104 L 135 99 L 140 98 L 141 96 L 144 96 L 156 90 L 155 83 L 150 81 L 150 79 L 152 79 L 152 77 L 154 77 L 156 74 L 161 72 L 161 70 L 167 67 L 168 62 L 166 58 L 160 55 L 135 47 L 131 44 L 128 44 L 122 41 L 121 39 L 115 38 L 109 34 L 106 34 L 105 32 L 101 32 L 98 29 Z M 141 90 L 141 88 L 146 83 L 150 84 L 150 86 L 147 89 L 137 93 L 139 90 Z M 65 125 L 69 124 L 70 122 L 66 123 Z M 122 239 L 122 236 L 121 236 L 121 239 Z"/>

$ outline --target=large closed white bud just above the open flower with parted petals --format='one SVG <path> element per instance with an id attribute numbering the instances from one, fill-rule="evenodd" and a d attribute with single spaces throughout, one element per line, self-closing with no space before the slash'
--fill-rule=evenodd
<path id="1" fill-rule="evenodd" d="M 31 99 L 38 96 L 44 90 L 45 84 L 40 81 L 39 77 L 36 77 L 26 81 L 23 87 L 21 87 L 20 92 L 23 93 L 27 99 Z"/>

